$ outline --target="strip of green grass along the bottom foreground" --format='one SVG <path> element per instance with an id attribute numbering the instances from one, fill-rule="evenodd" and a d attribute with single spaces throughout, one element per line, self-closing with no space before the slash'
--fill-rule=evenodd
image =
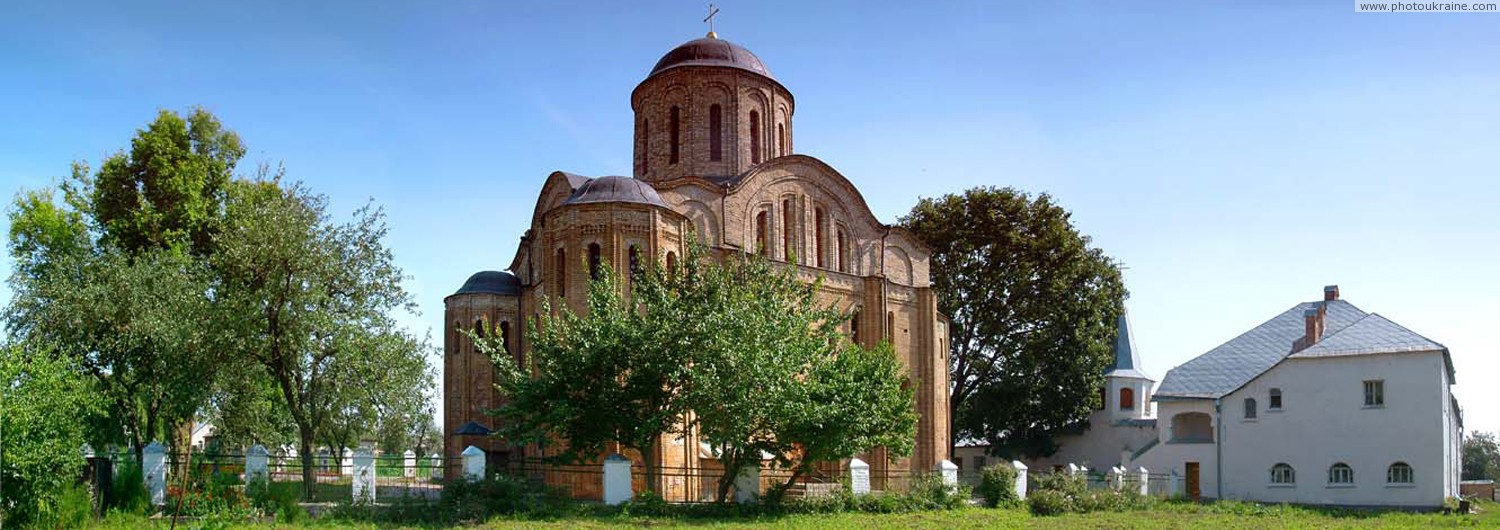
<path id="1" fill-rule="evenodd" d="M 1262 506 L 1250 503 L 1216 504 L 1156 504 L 1137 512 L 1096 512 L 1060 516 L 1032 516 L 1024 509 L 970 507 L 948 512 L 916 513 L 837 513 L 837 515 L 784 515 L 759 518 L 645 518 L 628 515 L 576 515 L 542 519 L 492 519 L 477 528 L 1500 528 L 1500 504 L 1482 503 L 1478 515 L 1406 513 L 1406 512 L 1358 512 L 1324 510 L 1292 506 Z M 166 521 L 141 518 L 112 518 L 94 528 L 165 528 Z M 198 524 L 183 524 L 194 528 Z M 242 524 L 230 528 L 408 528 L 372 522 L 350 522 L 315 519 L 296 525 Z M 422 528 L 422 527 L 411 527 Z"/>

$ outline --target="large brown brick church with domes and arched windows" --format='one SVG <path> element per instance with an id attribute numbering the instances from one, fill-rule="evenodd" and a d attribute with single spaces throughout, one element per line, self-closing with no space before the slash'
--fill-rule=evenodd
<path id="1" fill-rule="evenodd" d="M 848 177 L 795 150 L 792 93 L 759 57 L 708 33 L 662 56 L 630 93 L 630 107 L 632 176 L 549 174 L 507 270 L 474 273 L 444 299 L 446 456 L 458 458 L 471 444 L 492 462 L 540 456 L 488 435 L 495 419 L 486 410 L 498 404 L 494 369 L 460 329 L 494 326 L 506 348 L 524 359 L 524 323 L 543 299 L 582 311 L 591 263 L 656 257 L 670 264 L 682 255 L 684 239 L 698 237 L 720 255 L 796 257 L 806 278 L 825 278 L 824 302 L 854 315 L 856 342 L 894 344 L 918 389 L 916 449 L 891 458 L 872 447 L 860 456 L 873 474 L 930 471 L 946 459 L 948 321 L 930 288 L 928 249 L 880 224 Z M 666 467 L 717 465 L 693 435 L 657 447 Z M 456 476 L 456 465 L 447 473 Z M 705 494 L 693 480 L 662 480 L 658 491 L 670 500 Z M 560 485 L 597 497 L 597 482 L 592 476 Z"/>

